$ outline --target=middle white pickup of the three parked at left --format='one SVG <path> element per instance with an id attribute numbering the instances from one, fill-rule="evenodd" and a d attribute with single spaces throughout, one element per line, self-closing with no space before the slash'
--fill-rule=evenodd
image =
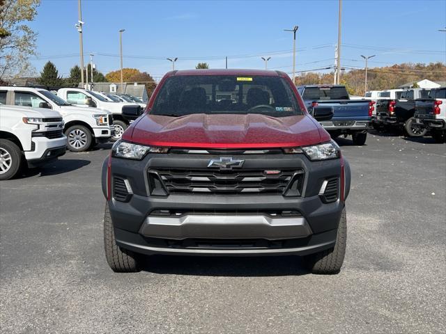
<path id="1" fill-rule="evenodd" d="M 43 107 L 59 111 L 65 122 L 63 132 L 68 150 L 83 152 L 98 143 L 105 143 L 114 134 L 113 116 L 108 111 L 72 106 L 49 90 L 31 87 L 0 87 L 5 103 L 15 106 Z"/>

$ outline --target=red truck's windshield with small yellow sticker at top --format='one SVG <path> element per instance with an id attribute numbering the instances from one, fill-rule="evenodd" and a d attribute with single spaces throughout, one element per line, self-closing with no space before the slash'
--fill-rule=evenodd
<path id="1" fill-rule="evenodd" d="M 180 75 L 165 81 L 151 113 L 257 113 L 284 117 L 302 115 L 302 110 L 291 87 L 280 77 Z"/>

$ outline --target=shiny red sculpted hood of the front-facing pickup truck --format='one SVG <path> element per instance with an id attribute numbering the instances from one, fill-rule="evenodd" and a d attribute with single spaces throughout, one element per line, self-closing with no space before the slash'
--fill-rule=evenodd
<path id="1" fill-rule="evenodd" d="M 321 143 L 321 136 L 309 116 L 146 114 L 125 132 L 123 140 L 187 148 L 284 148 Z"/>

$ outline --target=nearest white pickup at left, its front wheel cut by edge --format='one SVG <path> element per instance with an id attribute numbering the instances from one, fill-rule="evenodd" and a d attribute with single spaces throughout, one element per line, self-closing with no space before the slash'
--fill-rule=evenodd
<path id="1" fill-rule="evenodd" d="M 40 166 L 65 154 L 60 113 L 26 106 L 6 106 L 0 95 L 0 180 L 17 175 L 26 163 Z"/>

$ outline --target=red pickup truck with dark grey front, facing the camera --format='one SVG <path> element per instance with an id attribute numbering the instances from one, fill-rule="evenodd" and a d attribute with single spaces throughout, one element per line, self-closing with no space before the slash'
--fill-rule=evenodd
<path id="1" fill-rule="evenodd" d="M 337 273 L 350 175 L 287 74 L 169 72 L 102 166 L 107 262 L 300 255 Z"/>

